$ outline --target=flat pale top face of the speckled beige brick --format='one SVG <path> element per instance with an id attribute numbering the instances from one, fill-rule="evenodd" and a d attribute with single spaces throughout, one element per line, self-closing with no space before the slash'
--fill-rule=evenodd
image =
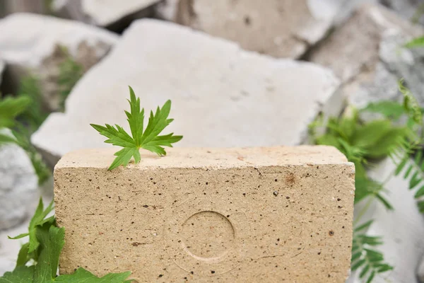
<path id="1" fill-rule="evenodd" d="M 59 168 L 108 168 L 118 149 L 79 149 L 64 155 L 55 166 Z M 263 166 L 303 166 L 349 163 L 346 156 L 333 146 L 271 146 L 242 148 L 167 149 L 159 157 L 141 150 L 141 162 L 129 168 L 237 168 Z M 122 167 L 120 167 L 122 168 Z"/>

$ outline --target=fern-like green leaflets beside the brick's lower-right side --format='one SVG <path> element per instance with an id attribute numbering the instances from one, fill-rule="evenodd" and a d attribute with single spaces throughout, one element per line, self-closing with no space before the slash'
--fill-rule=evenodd
<path id="1" fill-rule="evenodd" d="M 360 269 L 359 277 L 367 279 L 367 283 L 372 282 L 375 275 L 393 270 L 391 265 L 384 262 L 383 254 L 375 250 L 376 246 L 382 244 L 382 238 L 365 234 L 371 224 L 372 221 L 367 221 L 354 229 L 351 260 L 352 270 Z"/>

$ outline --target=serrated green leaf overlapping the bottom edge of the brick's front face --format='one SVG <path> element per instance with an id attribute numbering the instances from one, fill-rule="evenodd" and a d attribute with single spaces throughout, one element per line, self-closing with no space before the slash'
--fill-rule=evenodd
<path id="1" fill-rule="evenodd" d="M 131 272 L 110 273 L 101 278 L 96 277 L 92 273 L 84 270 L 82 267 L 78 268 L 75 273 L 71 275 L 60 275 L 54 282 L 62 283 L 130 283 L 132 280 L 127 279 Z"/>

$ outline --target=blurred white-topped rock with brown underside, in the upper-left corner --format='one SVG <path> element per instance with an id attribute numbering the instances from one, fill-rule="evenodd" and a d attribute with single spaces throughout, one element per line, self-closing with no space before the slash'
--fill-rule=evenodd
<path id="1" fill-rule="evenodd" d="M 89 69 L 110 50 L 118 35 L 90 25 L 50 16 L 17 13 L 0 21 L 0 57 L 8 84 L 16 91 L 28 74 L 39 77 L 45 107 L 59 108 L 59 67 L 67 54 Z M 66 48 L 66 52 L 63 51 Z"/>

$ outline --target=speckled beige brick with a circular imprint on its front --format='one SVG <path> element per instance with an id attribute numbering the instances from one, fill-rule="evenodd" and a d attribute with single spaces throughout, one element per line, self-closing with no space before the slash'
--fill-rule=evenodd
<path id="1" fill-rule="evenodd" d="M 60 272 L 138 282 L 345 282 L 355 169 L 330 146 L 171 149 L 107 171 L 113 149 L 54 170 Z"/>

